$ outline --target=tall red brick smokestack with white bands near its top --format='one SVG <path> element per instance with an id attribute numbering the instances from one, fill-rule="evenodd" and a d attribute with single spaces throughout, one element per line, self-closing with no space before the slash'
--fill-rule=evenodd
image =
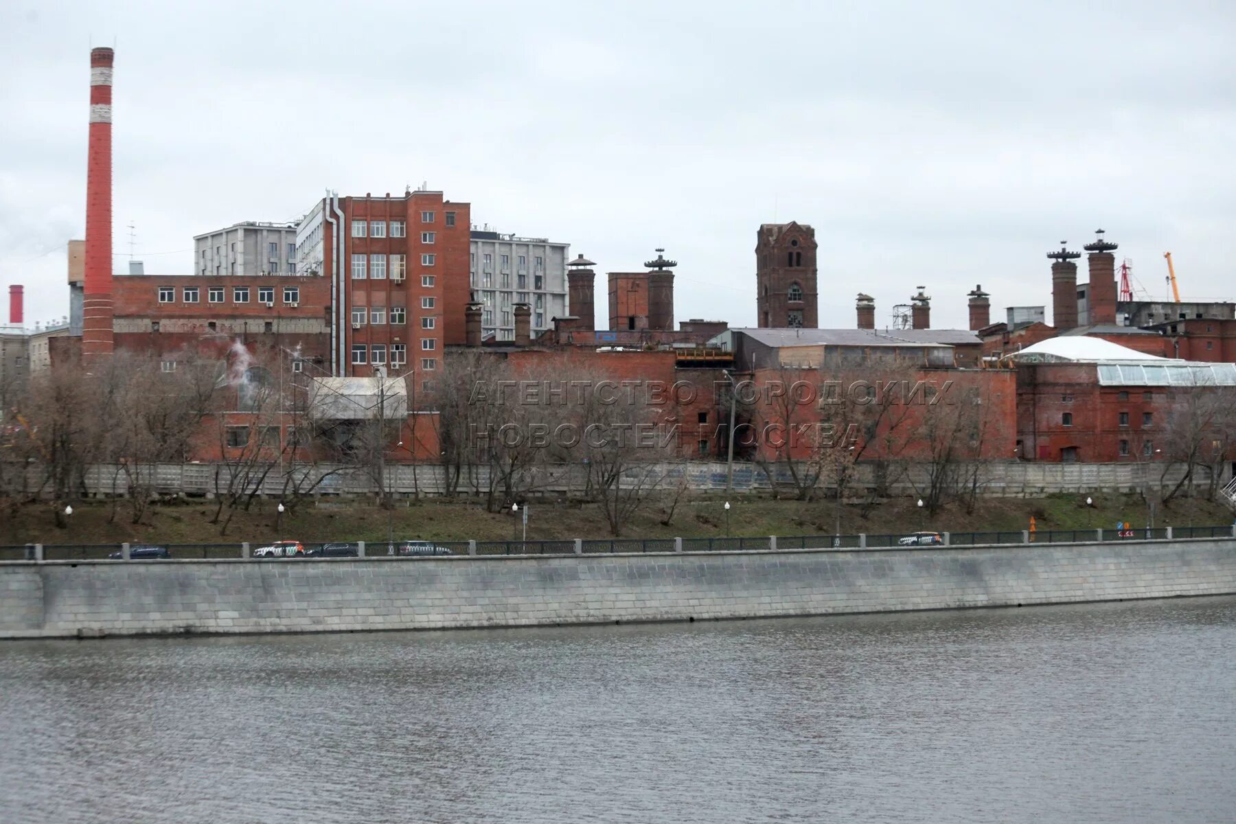
<path id="1" fill-rule="evenodd" d="M 90 149 L 85 175 L 85 283 L 82 355 L 111 355 L 111 64 L 90 49 Z"/>

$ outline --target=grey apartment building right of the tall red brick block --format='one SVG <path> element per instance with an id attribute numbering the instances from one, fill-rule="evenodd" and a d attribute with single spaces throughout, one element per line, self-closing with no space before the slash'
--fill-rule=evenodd
<path id="1" fill-rule="evenodd" d="M 472 230 L 471 285 L 481 301 L 481 326 L 486 336 L 510 341 L 515 337 L 513 306 L 531 306 L 531 334 L 552 326 L 554 317 L 569 314 L 566 305 L 566 262 L 570 243 L 544 237 L 517 237 Z"/>

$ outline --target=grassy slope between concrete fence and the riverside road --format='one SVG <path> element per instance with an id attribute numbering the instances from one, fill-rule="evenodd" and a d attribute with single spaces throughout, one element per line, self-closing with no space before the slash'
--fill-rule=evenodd
<path id="1" fill-rule="evenodd" d="M 923 516 L 910 499 L 892 500 L 873 508 L 863 518 L 861 508 L 843 507 L 842 532 L 908 532 L 918 529 L 960 531 L 1021 530 L 1035 515 L 1037 526 L 1047 529 L 1088 529 L 1111 526 L 1117 518 L 1145 525 L 1146 508 L 1136 495 L 1095 495 L 1095 505 L 1084 504 L 1085 495 L 1049 495 L 1046 498 L 981 499 L 973 514 L 959 508 L 947 508 L 934 518 Z M 19 508 L 16 513 L 0 513 L 0 544 L 109 544 L 119 541 L 198 544 L 198 542 L 265 542 L 279 537 L 276 530 L 276 502 L 258 500 L 251 511 L 239 511 L 227 532 L 220 536 L 219 526 L 210 523 L 214 505 L 210 502 L 188 502 L 152 508 L 146 523 L 132 525 L 124 503 L 116 518 L 108 523 L 111 507 L 105 502 L 83 502 L 74 505 L 72 523 L 59 529 L 53 523 L 49 505 Z M 732 499 L 729 526 L 733 535 L 810 535 L 831 534 L 836 524 L 832 502 L 802 504 L 794 500 L 771 500 L 750 495 Z M 529 510 L 528 537 L 608 537 L 604 513 L 593 505 L 536 504 Z M 726 513 L 721 498 L 682 502 L 669 526 L 660 524 L 665 510 L 649 505 L 638 511 L 623 530 L 625 537 L 706 537 L 726 534 Z M 428 500 L 410 507 L 397 507 L 393 513 L 367 502 L 330 502 L 319 507 L 303 507 L 283 516 L 283 537 L 302 541 L 365 540 L 387 537 L 388 519 L 393 520 L 396 537 L 436 540 L 506 540 L 518 523 L 510 513 L 487 513 L 483 507 L 462 503 Z M 1230 524 L 1232 514 L 1217 503 L 1180 499 L 1159 513 L 1158 526 Z"/>

